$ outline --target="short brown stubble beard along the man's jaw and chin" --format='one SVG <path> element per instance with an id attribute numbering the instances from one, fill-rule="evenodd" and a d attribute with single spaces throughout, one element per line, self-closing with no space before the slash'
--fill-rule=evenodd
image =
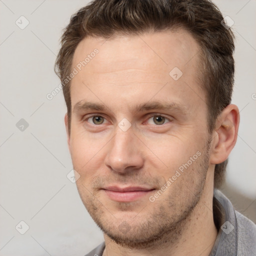
<path id="1" fill-rule="evenodd" d="M 137 216 L 132 219 L 117 220 L 108 211 L 107 205 L 103 205 L 103 203 L 95 199 L 92 194 L 85 196 L 84 193 L 78 189 L 83 204 L 97 226 L 115 243 L 123 247 L 130 249 L 156 248 L 156 246 L 162 246 L 164 243 L 176 243 L 186 229 L 189 217 L 198 204 L 203 192 L 208 169 L 210 140 L 210 138 L 207 140 L 206 148 L 204 148 L 204 150 L 206 150 L 200 156 L 201 158 L 198 158 L 200 161 L 196 163 L 194 168 L 186 170 L 197 173 L 196 178 L 194 178 L 195 183 L 193 187 L 189 187 L 189 183 L 182 183 L 184 180 L 189 181 L 189 179 L 193 177 L 191 174 L 187 178 L 180 179 L 179 184 L 176 183 L 175 189 L 172 189 L 168 197 L 165 198 L 157 208 L 154 208 L 155 206 L 152 206 L 153 202 L 149 201 L 147 202 L 148 205 L 143 205 L 144 209 L 146 209 L 147 206 L 154 208 L 153 212 L 147 214 L 147 217 L 142 216 L 142 218 L 139 218 L 138 213 Z M 185 172 L 182 173 L 183 177 L 185 177 L 185 175 Z M 173 184 L 171 184 L 171 186 L 173 186 Z M 185 196 L 184 194 L 180 196 L 182 191 L 186 191 Z M 165 191 L 165 193 L 166 192 L 167 191 Z M 179 203 L 177 208 L 176 202 L 179 198 L 185 198 L 186 200 Z M 119 205 L 120 208 L 124 210 L 128 204 L 125 206 L 119 203 Z M 108 217 L 106 214 L 108 214 Z M 136 221 L 136 218 L 141 221 Z"/>

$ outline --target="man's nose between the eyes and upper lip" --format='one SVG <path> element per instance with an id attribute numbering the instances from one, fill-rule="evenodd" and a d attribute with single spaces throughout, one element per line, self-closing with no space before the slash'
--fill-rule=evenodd
<path id="1" fill-rule="evenodd" d="M 119 173 L 140 169 L 144 164 L 141 142 L 133 133 L 116 128 L 116 133 L 108 143 L 105 165 Z"/>

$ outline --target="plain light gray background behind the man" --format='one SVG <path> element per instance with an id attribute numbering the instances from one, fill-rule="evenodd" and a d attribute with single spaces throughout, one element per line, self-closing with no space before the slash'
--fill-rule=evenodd
<path id="1" fill-rule="evenodd" d="M 46 98 L 59 84 L 53 65 L 61 29 L 87 2 L 0 0 L 0 255 L 84 255 L 103 240 L 66 177 L 72 164 L 62 92 Z M 241 114 L 223 190 L 255 221 L 256 2 L 214 2 L 234 20 L 232 102 Z M 15 24 L 21 15 L 29 21 L 24 29 Z M 29 124 L 23 131 L 16 127 L 21 118 Z M 23 235 L 15 229 L 21 220 L 29 226 Z"/>

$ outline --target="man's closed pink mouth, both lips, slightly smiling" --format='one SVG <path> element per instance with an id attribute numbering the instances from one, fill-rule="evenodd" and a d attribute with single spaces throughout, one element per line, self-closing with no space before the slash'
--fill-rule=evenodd
<path id="1" fill-rule="evenodd" d="M 140 186 L 127 186 L 127 187 L 118 187 L 118 186 L 108 186 L 102 188 L 104 193 L 114 201 L 118 202 L 129 202 L 138 200 L 149 193 L 151 193 L 155 188 L 146 188 Z"/>

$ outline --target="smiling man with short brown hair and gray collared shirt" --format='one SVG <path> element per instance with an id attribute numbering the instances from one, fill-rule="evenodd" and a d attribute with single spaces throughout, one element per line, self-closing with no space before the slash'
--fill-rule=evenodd
<path id="1" fill-rule="evenodd" d="M 56 60 L 76 185 L 104 242 L 87 255 L 256 255 L 216 188 L 238 132 L 233 34 L 207 0 L 94 0 Z"/>

